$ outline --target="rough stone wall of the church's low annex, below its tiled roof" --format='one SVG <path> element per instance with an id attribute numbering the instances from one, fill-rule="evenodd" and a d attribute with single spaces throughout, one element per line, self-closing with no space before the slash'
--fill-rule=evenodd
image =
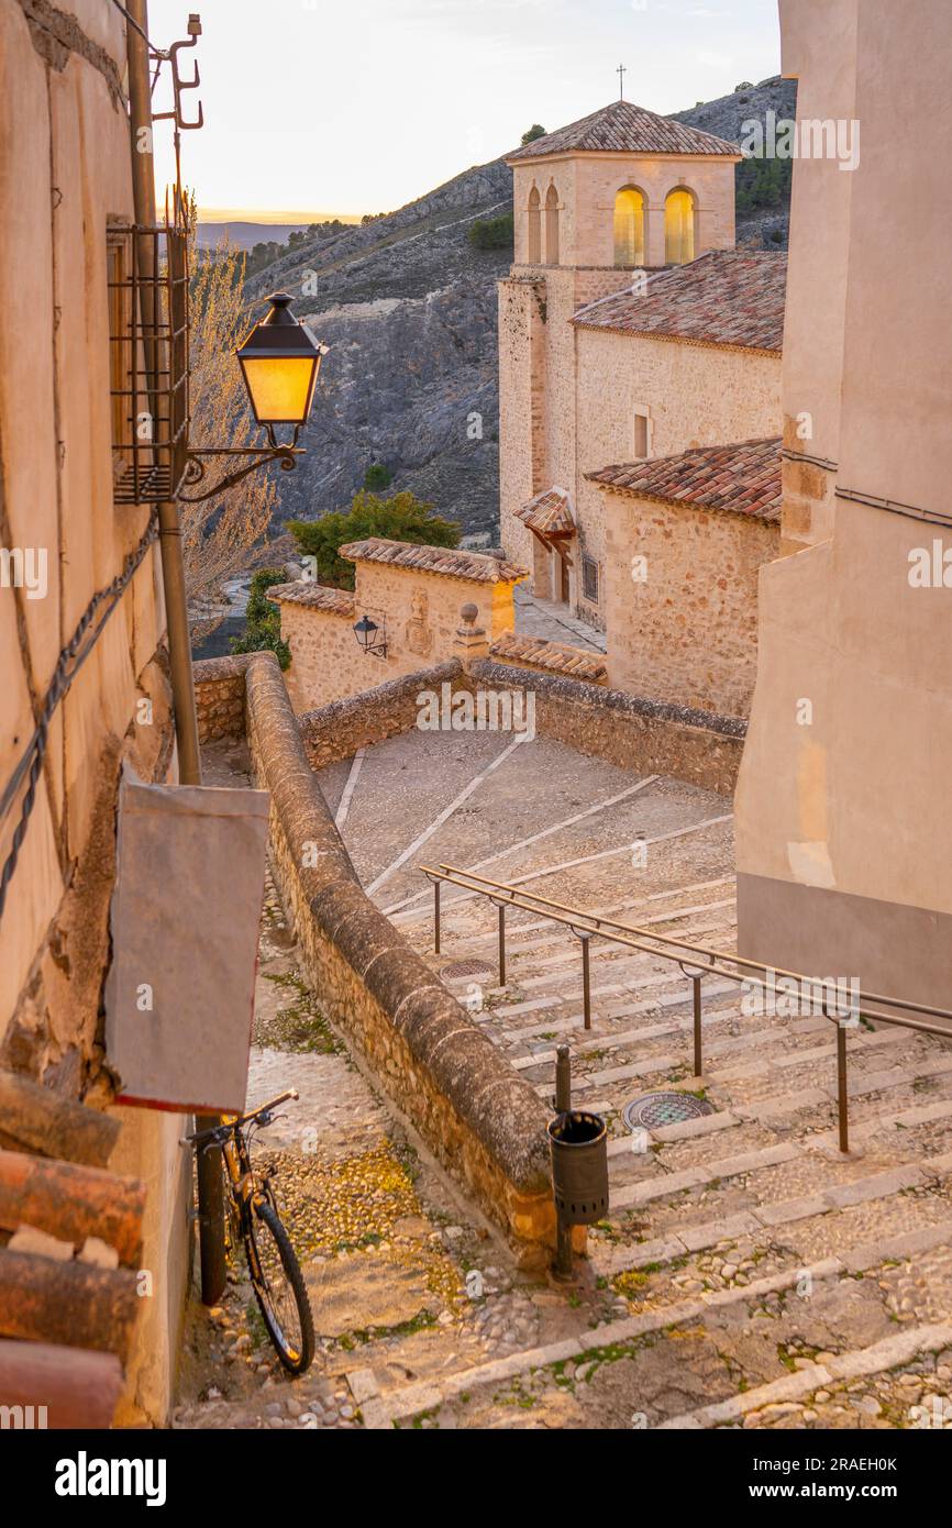
<path id="1" fill-rule="evenodd" d="M 594 484 L 590 484 L 594 487 Z M 604 489 L 613 689 L 746 717 L 756 675 L 756 579 L 779 530 L 743 515 Z M 639 576 L 633 578 L 633 559 Z"/>

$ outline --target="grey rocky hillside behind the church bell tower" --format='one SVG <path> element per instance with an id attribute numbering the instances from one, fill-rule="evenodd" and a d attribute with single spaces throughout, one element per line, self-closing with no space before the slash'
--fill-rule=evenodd
<path id="1" fill-rule="evenodd" d="M 795 110 L 795 86 L 767 79 L 701 102 L 677 119 L 738 141 L 741 124 Z M 746 170 L 747 167 L 741 167 Z M 332 347 L 303 445 L 281 475 L 281 520 L 345 507 L 371 463 L 454 516 L 466 536 L 495 541 L 498 382 L 495 283 L 506 249 L 477 251 L 469 229 L 512 205 L 503 160 L 480 165 L 371 223 L 298 244 L 248 289 L 284 287 Z M 738 238 L 782 248 L 787 208 L 750 209 Z"/>

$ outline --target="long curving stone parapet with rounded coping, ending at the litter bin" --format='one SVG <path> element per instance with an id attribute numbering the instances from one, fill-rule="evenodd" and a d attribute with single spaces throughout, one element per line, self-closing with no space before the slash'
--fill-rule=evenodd
<path id="1" fill-rule="evenodd" d="M 307 981 L 429 1149 L 504 1227 L 523 1265 L 542 1264 L 555 1235 L 546 1109 L 359 885 L 274 656 L 254 654 L 246 683 L 274 871 Z M 410 724 L 413 685 L 384 689 L 380 715 Z M 359 707 L 373 704 L 373 695 L 359 698 Z M 329 724 L 327 714 L 339 709 L 322 714 L 330 732 L 341 718 Z"/>

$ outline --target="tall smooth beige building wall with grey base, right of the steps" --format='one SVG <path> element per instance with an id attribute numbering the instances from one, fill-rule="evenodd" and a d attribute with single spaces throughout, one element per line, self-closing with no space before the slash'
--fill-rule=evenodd
<path id="1" fill-rule="evenodd" d="M 934 196 L 934 165 L 952 154 L 952 14 L 940 0 L 914 17 L 885 0 L 801 0 L 781 20 L 801 110 L 816 115 L 822 98 L 824 116 L 859 118 L 862 157 L 853 174 L 808 159 L 793 173 L 787 410 L 802 399 L 814 413 L 828 466 L 787 478 L 784 529 L 802 550 L 761 571 L 737 799 L 740 947 L 947 1008 L 952 590 L 941 578 L 914 587 L 909 558 L 952 550 L 952 437 L 935 385 L 952 350 L 952 272 Z M 883 228 L 908 237 L 883 240 Z M 807 293 L 828 304 L 822 335 Z"/>

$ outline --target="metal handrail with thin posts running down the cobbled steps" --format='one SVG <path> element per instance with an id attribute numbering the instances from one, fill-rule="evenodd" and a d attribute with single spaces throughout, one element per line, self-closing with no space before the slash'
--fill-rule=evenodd
<path id="1" fill-rule="evenodd" d="M 640 927 L 637 924 L 617 923 L 613 918 L 604 918 L 599 917 L 599 914 L 584 912 L 582 909 L 570 908 L 562 902 L 539 897 L 533 891 L 521 891 L 518 886 L 507 886 L 504 882 L 491 880 L 486 876 L 477 876 L 474 871 L 460 869 L 455 865 L 420 865 L 420 869 L 434 888 L 434 950 L 437 955 L 440 952 L 440 886 L 443 882 L 451 886 L 458 886 L 463 891 L 471 891 L 474 895 L 486 897 L 494 903 L 494 906 L 498 908 L 501 987 L 506 986 L 506 908 L 518 908 L 523 912 L 535 912 L 539 917 L 547 918 L 550 923 L 568 927 L 570 932 L 582 941 L 582 1025 L 585 1030 L 591 1028 L 588 941 L 593 937 L 604 938 L 610 944 L 620 944 L 623 949 L 640 950 L 645 955 L 656 955 L 660 960 L 669 960 L 678 964 L 692 984 L 695 1077 L 703 1074 L 701 981 L 704 976 L 726 976 L 727 981 L 737 983 L 749 981 L 764 990 L 775 986 L 775 978 L 788 978 L 808 990 L 824 986 L 822 978 L 807 976 L 804 972 L 767 966 L 764 961 L 755 961 L 746 955 L 733 955 L 729 950 L 717 950 L 704 944 L 692 944 L 688 940 L 678 940 L 669 934 L 656 934 L 652 929 Z M 700 970 L 692 969 L 685 960 L 685 952 L 701 957 L 704 961 L 703 967 Z M 743 967 L 743 973 L 738 975 L 737 970 L 729 970 L 729 966 Z M 763 972 L 764 975 L 755 975 L 756 972 Z M 767 973 L 770 973 L 772 979 L 767 979 Z M 891 1008 L 903 1008 L 905 1013 L 883 1013 L 879 1007 L 874 1007 L 874 1004 L 885 1004 Z M 877 1024 L 894 1024 L 899 1028 L 914 1030 L 920 1034 L 934 1034 L 940 1039 L 952 1039 L 952 1028 L 947 1027 L 952 1025 L 952 1012 L 947 1008 L 934 1008 L 921 1002 L 911 1002 L 906 998 L 888 998 L 882 993 L 863 993 L 862 990 L 857 995 L 856 1008 L 850 1010 L 848 1019 L 842 1013 L 830 1013 L 827 998 L 822 999 L 821 1008 L 822 1016 L 834 1024 L 837 1031 L 836 1059 L 839 1144 L 842 1152 L 848 1152 L 850 1122 L 847 1089 L 847 1028 L 859 1024 L 860 1019 L 868 1019 L 876 1021 Z M 947 1024 L 926 1024 L 920 1019 L 906 1018 L 906 1013 L 928 1015 L 932 1019 L 944 1019 Z"/>

